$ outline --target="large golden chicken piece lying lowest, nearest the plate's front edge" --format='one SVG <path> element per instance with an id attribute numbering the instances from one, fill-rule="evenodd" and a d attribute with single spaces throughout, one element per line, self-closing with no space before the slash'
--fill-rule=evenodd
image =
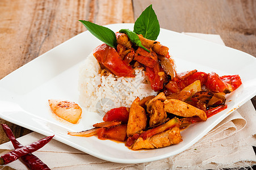
<path id="1" fill-rule="evenodd" d="M 138 138 L 133 145 L 132 150 L 139 150 L 142 148 L 161 148 L 177 144 L 181 141 L 181 133 L 179 128 L 175 126 L 170 130 L 163 131 L 162 133 L 153 135 L 152 137 L 146 138 L 145 140 L 143 138 Z"/>

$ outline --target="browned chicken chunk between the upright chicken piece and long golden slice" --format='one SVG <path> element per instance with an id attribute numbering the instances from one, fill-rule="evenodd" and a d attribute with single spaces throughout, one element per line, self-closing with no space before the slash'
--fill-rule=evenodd
<path id="1" fill-rule="evenodd" d="M 149 119 L 150 127 L 157 125 L 166 119 L 167 114 L 163 109 L 163 103 L 161 100 L 153 101 L 152 110 L 149 117 L 150 117 Z"/>

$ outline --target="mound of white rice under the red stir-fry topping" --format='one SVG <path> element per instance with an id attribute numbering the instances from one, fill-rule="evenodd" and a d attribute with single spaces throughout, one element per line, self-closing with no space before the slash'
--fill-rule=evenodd
<path id="1" fill-rule="evenodd" d="M 135 78 L 100 76 L 99 69 L 91 53 L 79 70 L 79 103 L 89 111 L 104 113 L 112 108 L 131 107 L 136 97 L 157 95 L 141 69 L 135 70 Z"/>

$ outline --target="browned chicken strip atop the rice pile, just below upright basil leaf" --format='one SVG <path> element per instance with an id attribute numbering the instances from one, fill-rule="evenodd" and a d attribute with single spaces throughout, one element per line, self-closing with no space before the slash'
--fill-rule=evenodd
<path id="1" fill-rule="evenodd" d="M 140 38 L 141 44 L 146 48 L 152 48 L 154 52 L 162 56 L 167 56 L 169 54 L 169 48 L 167 48 L 167 46 L 160 44 L 158 41 L 145 39 L 142 35 L 138 36 Z"/>

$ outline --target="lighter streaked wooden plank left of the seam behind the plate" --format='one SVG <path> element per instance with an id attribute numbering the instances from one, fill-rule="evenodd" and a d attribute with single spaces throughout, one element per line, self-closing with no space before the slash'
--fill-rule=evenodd
<path id="1" fill-rule="evenodd" d="M 79 19 L 104 25 L 133 23 L 127 0 L 2 0 L 0 1 L 0 79 L 86 28 Z M 0 119 L 15 137 L 31 130 Z M 0 128 L 0 144 L 9 141 Z"/>

